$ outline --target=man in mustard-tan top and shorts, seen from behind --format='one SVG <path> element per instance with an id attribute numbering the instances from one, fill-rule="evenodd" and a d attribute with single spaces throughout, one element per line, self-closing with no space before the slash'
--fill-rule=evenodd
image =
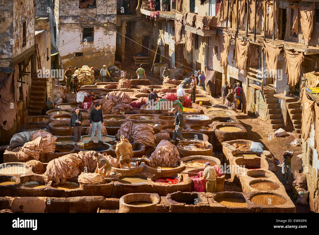
<path id="1" fill-rule="evenodd" d="M 120 141 L 117 142 L 115 153 L 118 163 L 121 165 L 121 169 L 124 168 L 124 163 L 131 169 L 131 157 L 133 156 L 132 145 L 128 139 L 125 139 L 124 135 L 121 135 Z"/>

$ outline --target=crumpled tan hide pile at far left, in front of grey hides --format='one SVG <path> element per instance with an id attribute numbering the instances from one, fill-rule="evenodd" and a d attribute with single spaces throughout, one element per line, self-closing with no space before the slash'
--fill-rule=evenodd
<path id="1" fill-rule="evenodd" d="M 41 153 L 54 153 L 55 151 L 56 137 L 52 134 L 38 130 L 32 135 L 32 140 L 26 142 L 14 155 L 19 159 L 27 159 L 32 156 L 35 160 L 39 160 Z"/>

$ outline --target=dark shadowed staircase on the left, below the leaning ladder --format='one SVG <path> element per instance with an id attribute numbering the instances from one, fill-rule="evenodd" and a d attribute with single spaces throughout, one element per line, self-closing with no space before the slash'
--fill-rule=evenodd
<path id="1" fill-rule="evenodd" d="M 47 90 L 46 78 L 32 78 L 32 86 L 30 92 L 30 100 L 28 106 L 29 116 L 38 116 L 45 113 L 46 102 L 46 90 Z"/>

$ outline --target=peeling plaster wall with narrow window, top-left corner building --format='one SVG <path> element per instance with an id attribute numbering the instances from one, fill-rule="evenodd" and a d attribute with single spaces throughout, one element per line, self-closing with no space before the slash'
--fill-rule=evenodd
<path id="1" fill-rule="evenodd" d="M 25 52 L 34 45 L 34 7 L 33 0 L 13 1 L 13 58 Z M 26 22 L 26 46 L 22 47 L 22 25 Z"/>

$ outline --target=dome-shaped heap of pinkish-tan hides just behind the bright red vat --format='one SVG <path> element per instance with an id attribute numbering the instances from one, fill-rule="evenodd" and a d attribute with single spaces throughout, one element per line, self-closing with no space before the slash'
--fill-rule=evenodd
<path id="1" fill-rule="evenodd" d="M 151 155 L 151 166 L 177 166 L 180 155 L 174 144 L 168 140 L 159 142 L 155 151 Z"/>

